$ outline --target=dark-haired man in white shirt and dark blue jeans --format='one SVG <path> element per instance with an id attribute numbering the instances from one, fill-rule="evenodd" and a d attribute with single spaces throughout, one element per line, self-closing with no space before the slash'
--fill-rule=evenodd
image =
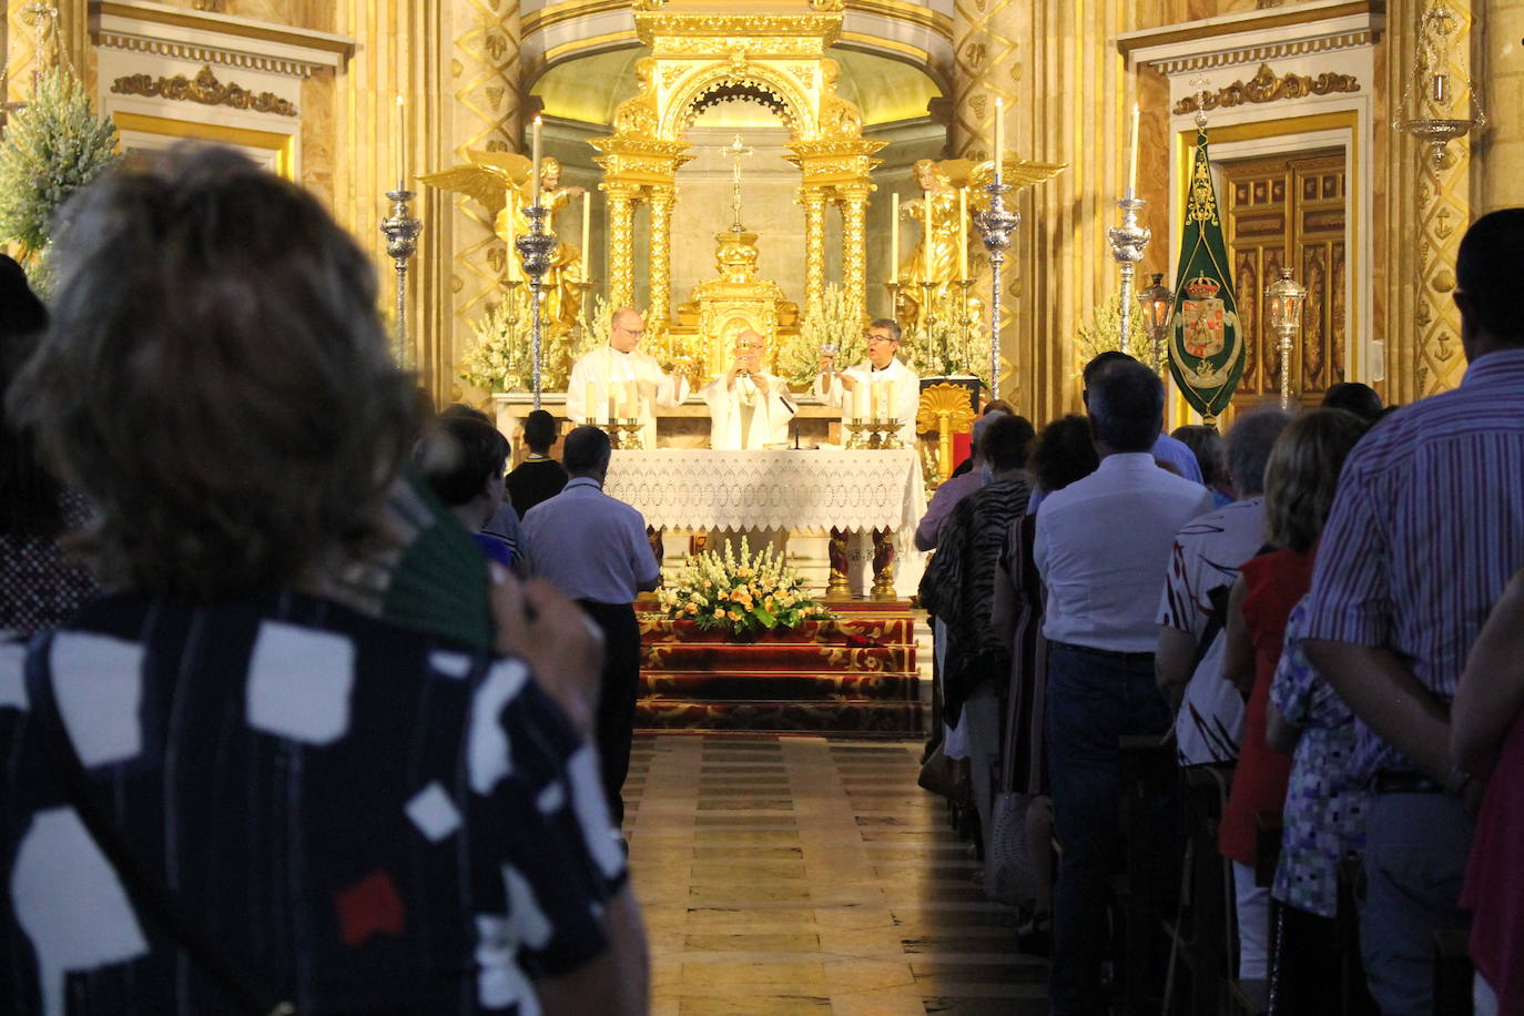
<path id="1" fill-rule="evenodd" d="M 1105 1005 L 1117 739 L 1169 730 L 1169 705 L 1154 684 L 1155 609 L 1175 533 L 1212 509 L 1204 486 L 1154 462 L 1164 422 L 1164 385 L 1154 372 L 1131 359 L 1103 364 L 1087 387 L 1100 468 L 1042 501 L 1032 548 L 1047 591 L 1047 730 L 1062 847 L 1049 979 L 1058 1016 Z"/>

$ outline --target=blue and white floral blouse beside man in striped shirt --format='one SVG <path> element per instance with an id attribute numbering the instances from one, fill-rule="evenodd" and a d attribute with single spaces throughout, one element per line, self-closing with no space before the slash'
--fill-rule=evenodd
<path id="1" fill-rule="evenodd" d="M 1306 605 L 1303 597 L 1286 620 L 1286 647 L 1269 687 L 1280 716 L 1303 728 L 1291 760 L 1271 894 L 1311 914 L 1335 917 L 1340 861 L 1366 845 L 1366 789 L 1353 774 L 1355 714 L 1301 652 Z"/>

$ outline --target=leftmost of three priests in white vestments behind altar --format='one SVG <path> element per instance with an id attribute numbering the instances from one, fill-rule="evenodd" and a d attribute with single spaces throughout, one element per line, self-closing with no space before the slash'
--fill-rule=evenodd
<path id="1" fill-rule="evenodd" d="M 645 320 L 629 308 L 610 317 L 608 346 L 572 366 L 567 381 L 567 417 L 578 423 L 607 423 L 610 417 L 642 423 L 643 448 L 657 446 L 657 407 L 675 407 L 687 398 L 687 379 L 661 373 L 655 356 L 636 349 L 646 334 Z"/>

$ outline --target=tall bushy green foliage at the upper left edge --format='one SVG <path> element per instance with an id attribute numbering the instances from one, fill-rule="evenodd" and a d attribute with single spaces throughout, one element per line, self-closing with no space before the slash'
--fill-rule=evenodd
<path id="1" fill-rule="evenodd" d="M 120 161 L 116 140 L 72 72 L 41 75 L 0 143 L 0 241 L 20 244 L 23 259 L 41 253 L 58 207 Z"/>

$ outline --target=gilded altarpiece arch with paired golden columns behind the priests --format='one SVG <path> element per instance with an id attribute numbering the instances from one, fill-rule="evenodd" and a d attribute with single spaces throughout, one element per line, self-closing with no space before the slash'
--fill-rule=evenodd
<path id="1" fill-rule="evenodd" d="M 773 110 L 788 128 L 789 161 L 800 169 L 805 209 L 803 303 L 826 285 L 824 216 L 841 215 L 843 289 L 864 315 L 867 289 L 866 213 L 870 174 L 884 142 L 863 137 L 858 108 L 837 94 L 840 69 L 826 50 L 841 35 L 841 3 L 821 0 L 812 14 L 738 15 L 636 14 L 651 55 L 636 65 L 639 93 L 614 114 L 614 134 L 594 139 L 602 152 L 608 196 L 610 300 L 634 302 L 636 209 L 651 213 L 651 308 L 648 327 L 666 334 L 672 358 L 707 359 L 703 346 L 719 337 L 674 334 L 671 224 L 680 198 L 675 175 L 689 161 L 684 140 L 695 117 L 715 104 L 747 99 Z M 767 280 L 757 280 L 765 286 Z M 770 296 L 760 294 L 759 296 Z M 698 343 L 700 347 L 683 347 Z"/>

